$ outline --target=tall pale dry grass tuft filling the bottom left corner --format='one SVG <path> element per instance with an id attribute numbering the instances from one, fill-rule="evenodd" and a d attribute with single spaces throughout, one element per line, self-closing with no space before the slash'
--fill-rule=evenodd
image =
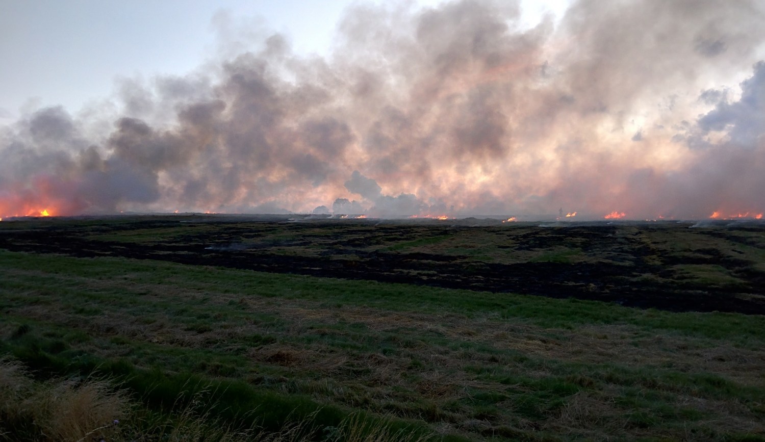
<path id="1" fill-rule="evenodd" d="M 206 408 L 200 407 L 203 393 L 196 395 L 194 400 L 177 413 L 158 414 L 142 408 L 137 401 L 132 400 L 127 390 L 117 388 L 113 382 L 104 379 L 51 379 L 38 382 L 21 362 L 2 358 L 0 440 L 272 440 L 259 439 L 253 431 L 236 431 L 223 422 L 211 419 L 207 411 L 204 411 Z"/>

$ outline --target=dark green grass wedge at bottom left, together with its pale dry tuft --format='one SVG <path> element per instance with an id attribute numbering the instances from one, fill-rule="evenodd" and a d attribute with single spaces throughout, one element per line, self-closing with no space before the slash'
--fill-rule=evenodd
<path id="1" fill-rule="evenodd" d="M 101 377 L 102 372 L 110 377 Z M 137 394 L 140 401 L 134 398 Z M 109 362 L 84 379 L 41 381 L 8 357 L 0 358 L 0 438 L 41 442 L 437 440 L 417 422 L 380 419 L 364 412 L 348 414 L 295 396 L 258 391 L 239 381 L 168 376 Z"/>

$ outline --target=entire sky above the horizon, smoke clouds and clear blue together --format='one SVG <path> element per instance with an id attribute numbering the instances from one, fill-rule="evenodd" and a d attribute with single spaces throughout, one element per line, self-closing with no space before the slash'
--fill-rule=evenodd
<path id="1" fill-rule="evenodd" d="M 765 6 L 0 0 L 0 218 L 765 211 Z"/>

